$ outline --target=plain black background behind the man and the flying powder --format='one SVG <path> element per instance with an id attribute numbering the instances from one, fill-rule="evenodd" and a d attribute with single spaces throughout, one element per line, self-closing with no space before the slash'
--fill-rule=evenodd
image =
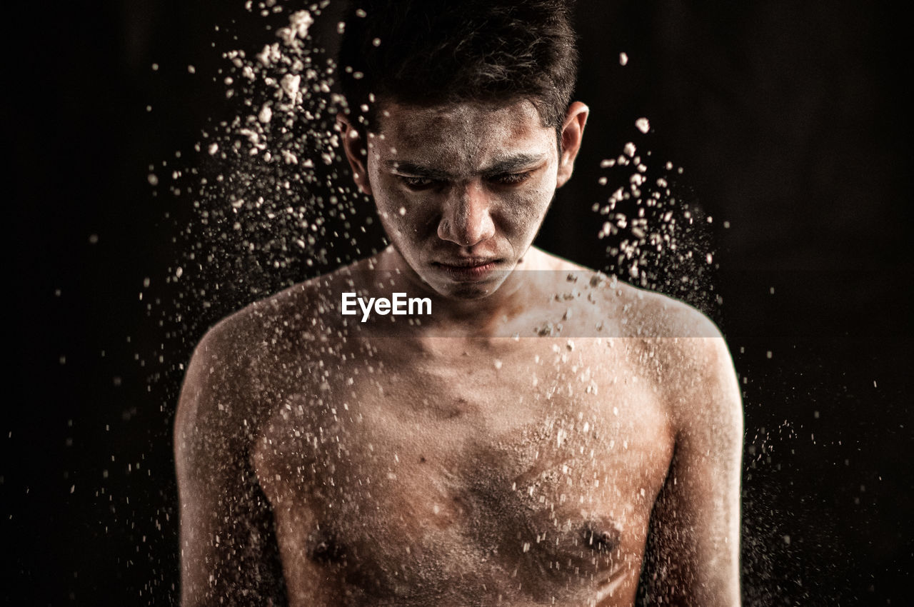
<path id="1" fill-rule="evenodd" d="M 196 211 L 164 186 L 153 196 L 147 175 L 167 175 L 163 161 L 195 165 L 207 119 L 237 110 L 213 80 L 221 53 L 271 34 L 240 0 L 33 8 L 5 19 L 6 298 L 17 305 L 6 316 L 15 388 L 0 426 L 0 597 L 175 604 L 177 366 L 208 324 L 263 293 L 178 307 L 183 292 L 165 276 Z M 582 0 L 578 13 L 578 97 L 592 115 L 538 243 L 605 267 L 590 205 L 614 189 L 598 176 L 616 174 L 600 159 L 632 140 L 683 166 L 675 194 L 714 218 L 696 238 L 717 266 L 684 292 L 677 272 L 688 269 L 658 261 L 658 282 L 717 321 L 745 390 L 747 604 L 905 604 L 904 20 L 825 0 Z M 633 128 L 641 116 L 647 135 Z M 282 285 L 259 272 L 263 290 Z M 193 322 L 181 328 L 175 314 Z"/>

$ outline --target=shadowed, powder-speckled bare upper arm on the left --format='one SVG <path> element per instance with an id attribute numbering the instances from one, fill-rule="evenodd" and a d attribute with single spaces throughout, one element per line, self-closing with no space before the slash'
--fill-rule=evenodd
<path id="1" fill-rule="evenodd" d="M 250 395 L 226 333 L 197 346 L 175 417 L 181 604 L 282 604 L 271 511 L 250 464 Z"/>

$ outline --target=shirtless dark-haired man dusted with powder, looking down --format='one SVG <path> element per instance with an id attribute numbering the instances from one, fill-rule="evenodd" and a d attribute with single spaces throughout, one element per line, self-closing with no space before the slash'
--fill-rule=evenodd
<path id="1" fill-rule="evenodd" d="M 651 604 L 738 605 L 723 339 L 531 247 L 588 116 L 566 10 L 358 4 L 338 123 L 391 245 L 197 346 L 175 421 L 182 603 L 632 605 L 649 559 Z M 344 293 L 431 314 L 363 322 Z"/>

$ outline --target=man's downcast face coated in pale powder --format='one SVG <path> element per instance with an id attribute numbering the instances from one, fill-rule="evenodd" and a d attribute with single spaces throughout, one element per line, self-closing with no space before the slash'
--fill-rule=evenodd
<path id="1" fill-rule="evenodd" d="M 493 293 L 570 175 L 555 129 L 529 101 L 382 110 L 356 181 L 374 197 L 394 248 L 441 295 Z"/>

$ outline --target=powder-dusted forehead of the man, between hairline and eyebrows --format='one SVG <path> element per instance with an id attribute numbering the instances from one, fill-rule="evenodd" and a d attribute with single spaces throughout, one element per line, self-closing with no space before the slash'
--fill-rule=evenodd
<path id="1" fill-rule="evenodd" d="M 382 158 L 470 170 L 510 154 L 557 153 L 555 130 L 530 101 L 449 103 L 431 107 L 385 103 L 378 116 Z"/>

